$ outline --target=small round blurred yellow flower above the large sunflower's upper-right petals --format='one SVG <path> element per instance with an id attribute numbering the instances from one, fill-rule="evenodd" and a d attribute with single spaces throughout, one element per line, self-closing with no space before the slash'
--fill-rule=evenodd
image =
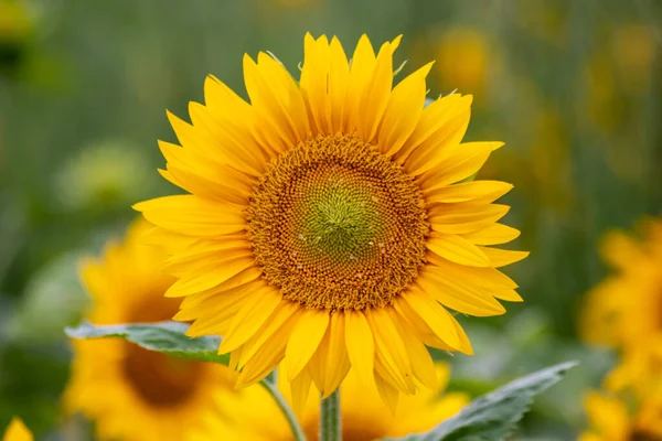
<path id="1" fill-rule="evenodd" d="M 437 69 L 446 89 L 481 94 L 490 64 L 488 37 L 473 29 L 451 28 L 440 39 Z"/>

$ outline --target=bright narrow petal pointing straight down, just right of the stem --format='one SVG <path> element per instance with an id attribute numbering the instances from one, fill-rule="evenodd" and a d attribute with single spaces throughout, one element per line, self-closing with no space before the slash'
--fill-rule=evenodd
<path id="1" fill-rule="evenodd" d="M 373 379 L 375 342 L 370 324 L 360 311 L 348 311 L 345 314 L 345 344 L 353 369 L 364 386 Z"/>

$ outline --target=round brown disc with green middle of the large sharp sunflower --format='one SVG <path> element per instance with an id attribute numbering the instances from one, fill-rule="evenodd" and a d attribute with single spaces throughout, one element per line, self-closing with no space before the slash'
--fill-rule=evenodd
<path id="1" fill-rule="evenodd" d="M 248 207 L 264 277 L 312 309 L 389 304 L 425 262 L 428 230 L 413 178 L 373 146 L 341 135 L 276 158 Z"/>

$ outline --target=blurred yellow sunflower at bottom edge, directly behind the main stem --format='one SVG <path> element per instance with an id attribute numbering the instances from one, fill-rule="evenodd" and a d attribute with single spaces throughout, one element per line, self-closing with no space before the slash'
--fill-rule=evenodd
<path id="1" fill-rule="evenodd" d="M 395 415 L 384 405 L 375 386 L 365 387 L 354 370 L 348 374 L 342 386 L 341 418 L 344 441 L 370 441 L 384 437 L 405 437 L 424 432 L 440 421 L 456 415 L 469 402 L 465 392 L 444 394 L 450 369 L 446 364 L 437 364 L 438 388 L 421 390 L 413 396 L 404 396 Z M 280 379 L 280 389 L 291 402 L 287 381 Z M 442 395 L 444 394 L 444 395 Z M 266 394 L 253 394 L 246 405 L 237 408 L 235 415 L 237 438 L 255 441 L 286 441 L 291 439 L 289 427 L 273 400 Z M 243 413 L 242 413 L 243 412 Z M 309 396 L 300 412 L 299 421 L 307 439 L 318 439 L 319 401 Z"/>

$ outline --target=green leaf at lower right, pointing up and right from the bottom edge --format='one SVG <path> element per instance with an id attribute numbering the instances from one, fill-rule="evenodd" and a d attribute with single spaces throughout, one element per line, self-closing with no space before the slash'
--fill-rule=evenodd
<path id="1" fill-rule="evenodd" d="M 391 438 L 391 441 L 498 441 L 505 439 L 526 413 L 533 397 L 557 383 L 576 365 L 547 367 L 473 400 L 456 417 L 429 432 Z M 385 440 L 385 441 L 386 441 Z"/>

